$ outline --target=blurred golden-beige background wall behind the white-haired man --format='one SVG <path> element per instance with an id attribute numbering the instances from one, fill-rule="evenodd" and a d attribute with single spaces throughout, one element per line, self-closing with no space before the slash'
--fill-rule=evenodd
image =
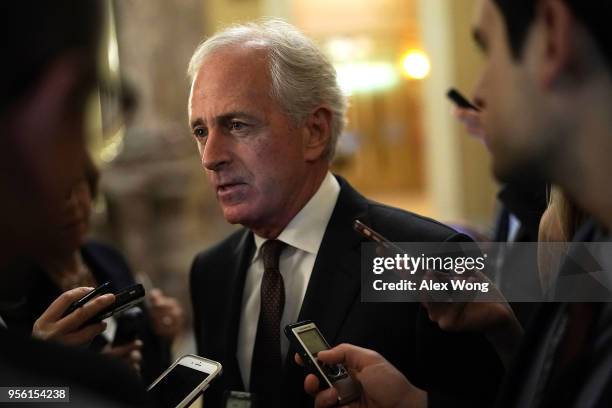
<path id="1" fill-rule="evenodd" d="M 450 86 L 469 95 L 474 85 L 474 3 L 109 0 L 109 59 L 138 103 L 118 136 L 96 144 L 96 235 L 189 311 L 193 256 L 235 227 L 220 215 L 190 136 L 185 71 L 205 35 L 262 16 L 297 25 L 337 67 L 350 109 L 336 172 L 373 199 L 486 230 L 496 190 L 488 157 L 444 96 Z"/>

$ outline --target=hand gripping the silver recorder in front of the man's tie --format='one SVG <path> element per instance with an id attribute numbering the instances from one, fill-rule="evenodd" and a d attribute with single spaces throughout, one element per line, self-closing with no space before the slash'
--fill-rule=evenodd
<path id="1" fill-rule="evenodd" d="M 296 362 L 301 364 L 299 355 Z M 391 363 L 375 351 L 341 344 L 331 350 L 320 351 L 317 359 L 326 364 L 343 364 L 361 383 L 360 399 L 351 402 L 350 408 L 394 408 L 427 406 L 427 393 L 412 385 Z M 304 390 L 315 397 L 316 408 L 335 407 L 338 392 L 335 388 L 319 389 L 319 379 L 309 374 L 304 380 Z"/>

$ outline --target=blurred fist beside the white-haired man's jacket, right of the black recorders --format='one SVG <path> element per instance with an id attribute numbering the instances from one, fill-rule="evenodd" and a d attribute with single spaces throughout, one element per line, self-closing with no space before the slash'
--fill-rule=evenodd
<path id="1" fill-rule="evenodd" d="M 183 327 L 183 308 L 175 298 L 164 295 L 159 289 L 151 291 L 149 300 L 153 330 L 158 336 L 172 340 Z"/>

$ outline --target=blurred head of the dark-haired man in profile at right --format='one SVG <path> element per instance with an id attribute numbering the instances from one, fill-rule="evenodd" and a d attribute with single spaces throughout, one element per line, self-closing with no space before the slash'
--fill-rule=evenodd
<path id="1" fill-rule="evenodd" d="M 474 96 L 499 179 L 564 184 L 587 164 L 586 127 L 611 98 L 609 10 L 599 0 L 480 1 Z"/>

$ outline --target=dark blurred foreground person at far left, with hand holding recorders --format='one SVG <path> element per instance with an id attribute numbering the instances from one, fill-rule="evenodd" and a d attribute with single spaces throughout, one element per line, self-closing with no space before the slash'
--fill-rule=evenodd
<path id="1" fill-rule="evenodd" d="M 0 16 L 2 37 L 11 39 L 3 46 L 0 75 L 4 304 L 23 293 L 31 257 L 51 244 L 50 227 L 58 221 L 71 181 L 83 171 L 85 108 L 97 77 L 101 6 L 88 0 L 3 2 Z M 43 313 L 40 319 L 50 338 L 81 343 L 103 330 L 103 324 L 88 332 L 79 328 L 111 304 L 112 295 L 61 318 L 89 290 L 70 290 Z M 0 385 L 70 387 L 70 402 L 81 406 L 146 404 L 140 382 L 123 365 L 0 325 Z"/>

